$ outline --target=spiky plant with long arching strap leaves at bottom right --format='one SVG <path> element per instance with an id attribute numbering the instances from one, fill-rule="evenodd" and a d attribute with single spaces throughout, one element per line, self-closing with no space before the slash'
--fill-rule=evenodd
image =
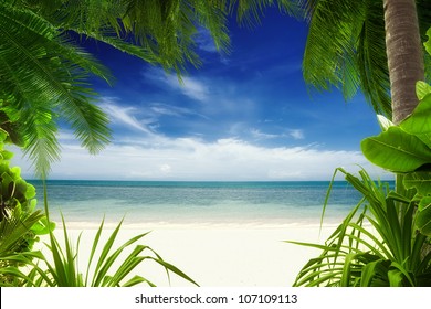
<path id="1" fill-rule="evenodd" d="M 364 198 L 324 245 L 288 242 L 322 249 L 294 286 L 431 286 L 431 253 L 422 254 L 429 237 L 414 226 L 414 200 L 375 182 L 364 170 L 359 178 L 337 172 Z M 330 188 L 325 206 L 329 194 Z"/>

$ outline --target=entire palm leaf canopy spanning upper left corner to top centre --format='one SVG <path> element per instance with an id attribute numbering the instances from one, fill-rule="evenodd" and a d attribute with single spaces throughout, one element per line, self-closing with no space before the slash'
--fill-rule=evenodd
<path id="1" fill-rule="evenodd" d="M 219 51 L 229 52 L 228 15 L 235 12 L 251 23 L 275 3 L 284 12 L 296 12 L 296 2 L 290 0 L 3 0 L 0 128 L 45 178 L 60 159 L 60 119 L 91 153 L 111 140 L 108 117 L 94 105 L 97 95 L 88 78 L 112 78 L 76 38 L 104 42 L 180 78 L 189 65 L 200 65 L 200 29 L 209 30 Z"/>

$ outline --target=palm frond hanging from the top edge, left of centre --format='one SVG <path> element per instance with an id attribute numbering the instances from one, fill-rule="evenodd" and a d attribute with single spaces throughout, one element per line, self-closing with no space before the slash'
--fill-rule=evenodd
<path id="1" fill-rule="evenodd" d="M 193 10 L 193 4 L 198 6 L 197 10 Z M 181 73 L 188 63 L 200 65 L 193 39 L 198 33 L 198 25 L 207 26 L 202 22 L 210 22 L 214 38 L 223 35 L 221 40 L 229 39 L 224 35 L 224 24 L 214 18 L 211 10 L 201 8 L 202 3 L 198 1 L 190 4 L 176 0 L 127 1 L 126 14 L 122 21 L 137 45 L 155 54 L 166 70 Z M 223 46 L 224 42 L 216 44 Z"/>

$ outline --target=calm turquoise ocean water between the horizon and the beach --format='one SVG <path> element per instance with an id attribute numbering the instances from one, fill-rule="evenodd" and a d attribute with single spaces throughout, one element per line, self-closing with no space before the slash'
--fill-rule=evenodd
<path id="1" fill-rule="evenodd" d="M 43 207 L 42 188 L 38 206 Z M 176 182 L 60 181 L 48 182 L 52 219 L 63 214 L 67 225 L 125 224 L 319 224 L 329 182 Z M 347 182 L 334 183 L 325 222 L 338 223 L 360 200 Z"/>

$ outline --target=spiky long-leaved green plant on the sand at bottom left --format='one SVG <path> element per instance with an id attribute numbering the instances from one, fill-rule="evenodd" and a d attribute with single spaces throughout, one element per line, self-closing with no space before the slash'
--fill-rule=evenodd
<path id="1" fill-rule="evenodd" d="M 134 275 L 132 271 L 144 262 L 155 262 L 167 273 L 176 274 L 181 278 L 197 285 L 190 277 L 172 264 L 164 260 L 153 248 L 146 245 L 132 246 L 148 233 L 144 233 L 128 239 L 120 246 L 114 248 L 123 221 L 116 226 L 109 238 L 102 244 L 101 236 L 104 221 L 94 237 L 88 263 L 85 273 L 78 267 L 81 234 L 74 246 L 67 233 L 63 219 L 64 245 L 62 246 L 55 235 L 50 233 L 50 255 L 41 252 L 28 252 L 18 254 L 10 259 L 17 263 L 31 265 L 31 269 L 24 273 L 22 269 L 9 268 L 6 273 L 19 277 L 25 281 L 25 286 L 32 287 L 130 287 L 138 284 L 156 286 L 153 281 L 141 275 Z M 132 249 L 129 253 L 127 249 Z M 48 258 L 49 257 L 49 258 Z M 50 260 L 52 258 L 52 262 Z"/>

